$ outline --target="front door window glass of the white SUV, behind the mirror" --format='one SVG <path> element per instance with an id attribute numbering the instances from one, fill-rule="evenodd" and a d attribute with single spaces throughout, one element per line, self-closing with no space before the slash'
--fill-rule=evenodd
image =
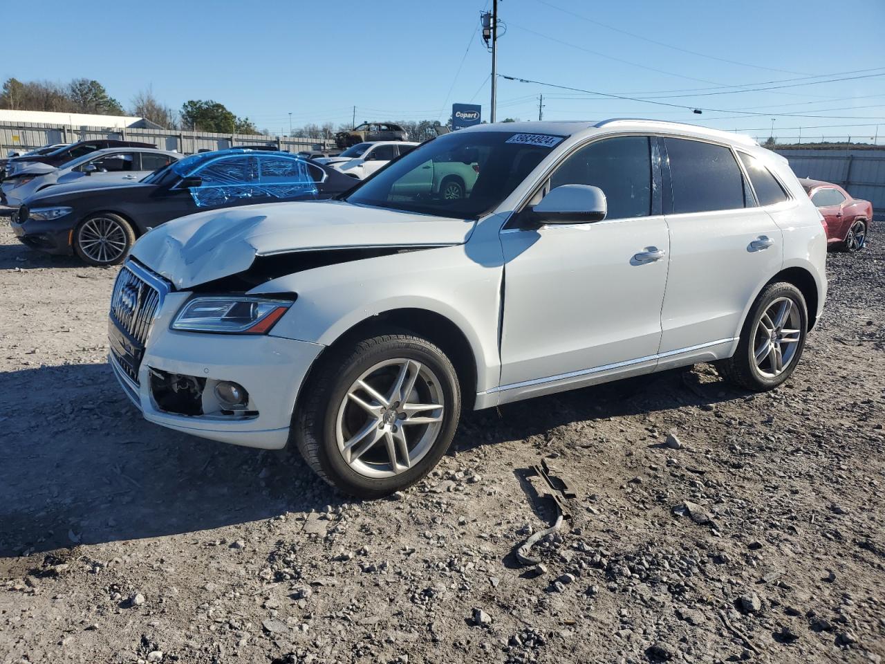
<path id="1" fill-rule="evenodd" d="M 648 136 L 620 136 L 590 143 L 550 176 L 550 189 L 591 184 L 608 201 L 606 219 L 647 217 L 651 213 L 651 157 Z"/>

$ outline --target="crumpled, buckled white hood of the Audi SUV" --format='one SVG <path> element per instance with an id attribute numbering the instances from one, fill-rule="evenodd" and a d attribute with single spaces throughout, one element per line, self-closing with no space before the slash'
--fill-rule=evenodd
<path id="1" fill-rule="evenodd" d="M 473 226 L 341 201 L 247 205 L 169 221 L 143 235 L 132 256 L 182 289 L 242 272 L 257 255 L 463 244 Z"/>

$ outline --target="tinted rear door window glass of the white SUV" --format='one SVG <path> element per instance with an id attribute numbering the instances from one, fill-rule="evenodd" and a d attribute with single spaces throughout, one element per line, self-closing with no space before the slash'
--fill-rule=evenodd
<path id="1" fill-rule="evenodd" d="M 731 150 L 685 138 L 665 144 L 674 214 L 743 208 L 743 175 Z"/>

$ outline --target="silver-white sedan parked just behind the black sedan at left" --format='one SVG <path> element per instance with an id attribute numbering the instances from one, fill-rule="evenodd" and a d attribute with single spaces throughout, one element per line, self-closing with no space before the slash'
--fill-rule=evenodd
<path id="1" fill-rule="evenodd" d="M 72 159 L 62 166 L 34 162 L 3 181 L 7 205 L 18 207 L 27 197 L 54 184 L 81 181 L 83 185 L 112 182 L 131 184 L 173 161 L 181 154 L 149 148 L 108 148 Z"/>

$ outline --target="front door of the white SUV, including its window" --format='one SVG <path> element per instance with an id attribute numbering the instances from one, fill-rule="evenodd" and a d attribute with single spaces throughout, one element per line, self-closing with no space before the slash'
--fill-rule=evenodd
<path id="1" fill-rule="evenodd" d="M 525 383 L 573 386 L 655 366 L 669 251 L 657 181 L 647 136 L 590 143 L 549 187 L 599 187 L 606 218 L 502 231 L 503 401 Z"/>

